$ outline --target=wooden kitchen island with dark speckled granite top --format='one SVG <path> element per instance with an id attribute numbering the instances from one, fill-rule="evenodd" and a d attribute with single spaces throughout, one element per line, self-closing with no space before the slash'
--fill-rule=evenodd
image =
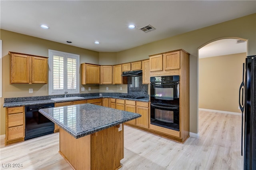
<path id="1" fill-rule="evenodd" d="M 59 153 L 80 170 L 118 169 L 124 158 L 124 125 L 136 113 L 93 104 L 40 109 L 60 127 Z"/>

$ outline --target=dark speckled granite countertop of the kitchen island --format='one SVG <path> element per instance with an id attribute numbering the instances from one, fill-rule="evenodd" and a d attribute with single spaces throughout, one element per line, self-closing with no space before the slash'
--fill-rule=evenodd
<path id="1" fill-rule="evenodd" d="M 39 112 L 74 138 L 80 138 L 141 117 L 137 113 L 89 103 L 40 109 Z"/>

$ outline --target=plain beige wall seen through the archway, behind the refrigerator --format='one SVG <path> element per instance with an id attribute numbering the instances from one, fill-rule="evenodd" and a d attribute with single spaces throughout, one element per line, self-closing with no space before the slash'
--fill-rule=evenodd
<path id="1" fill-rule="evenodd" d="M 238 90 L 246 53 L 199 59 L 199 108 L 240 113 Z"/>

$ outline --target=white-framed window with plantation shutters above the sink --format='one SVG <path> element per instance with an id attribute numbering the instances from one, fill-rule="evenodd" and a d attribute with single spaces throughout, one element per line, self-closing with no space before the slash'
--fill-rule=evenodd
<path id="1" fill-rule="evenodd" d="M 49 95 L 79 93 L 79 55 L 49 49 Z"/>

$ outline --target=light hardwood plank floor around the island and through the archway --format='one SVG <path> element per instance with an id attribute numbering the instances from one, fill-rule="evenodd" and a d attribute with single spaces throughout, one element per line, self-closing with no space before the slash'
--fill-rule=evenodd
<path id="1" fill-rule="evenodd" d="M 240 170 L 241 117 L 199 111 L 199 136 L 184 144 L 124 127 L 124 159 L 120 170 Z M 1 138 L 1 169 L 69 170 L 60 156 L 58 133 L 4 146 Z M 6 167 L 8 163 L 22 168 Z"/>

